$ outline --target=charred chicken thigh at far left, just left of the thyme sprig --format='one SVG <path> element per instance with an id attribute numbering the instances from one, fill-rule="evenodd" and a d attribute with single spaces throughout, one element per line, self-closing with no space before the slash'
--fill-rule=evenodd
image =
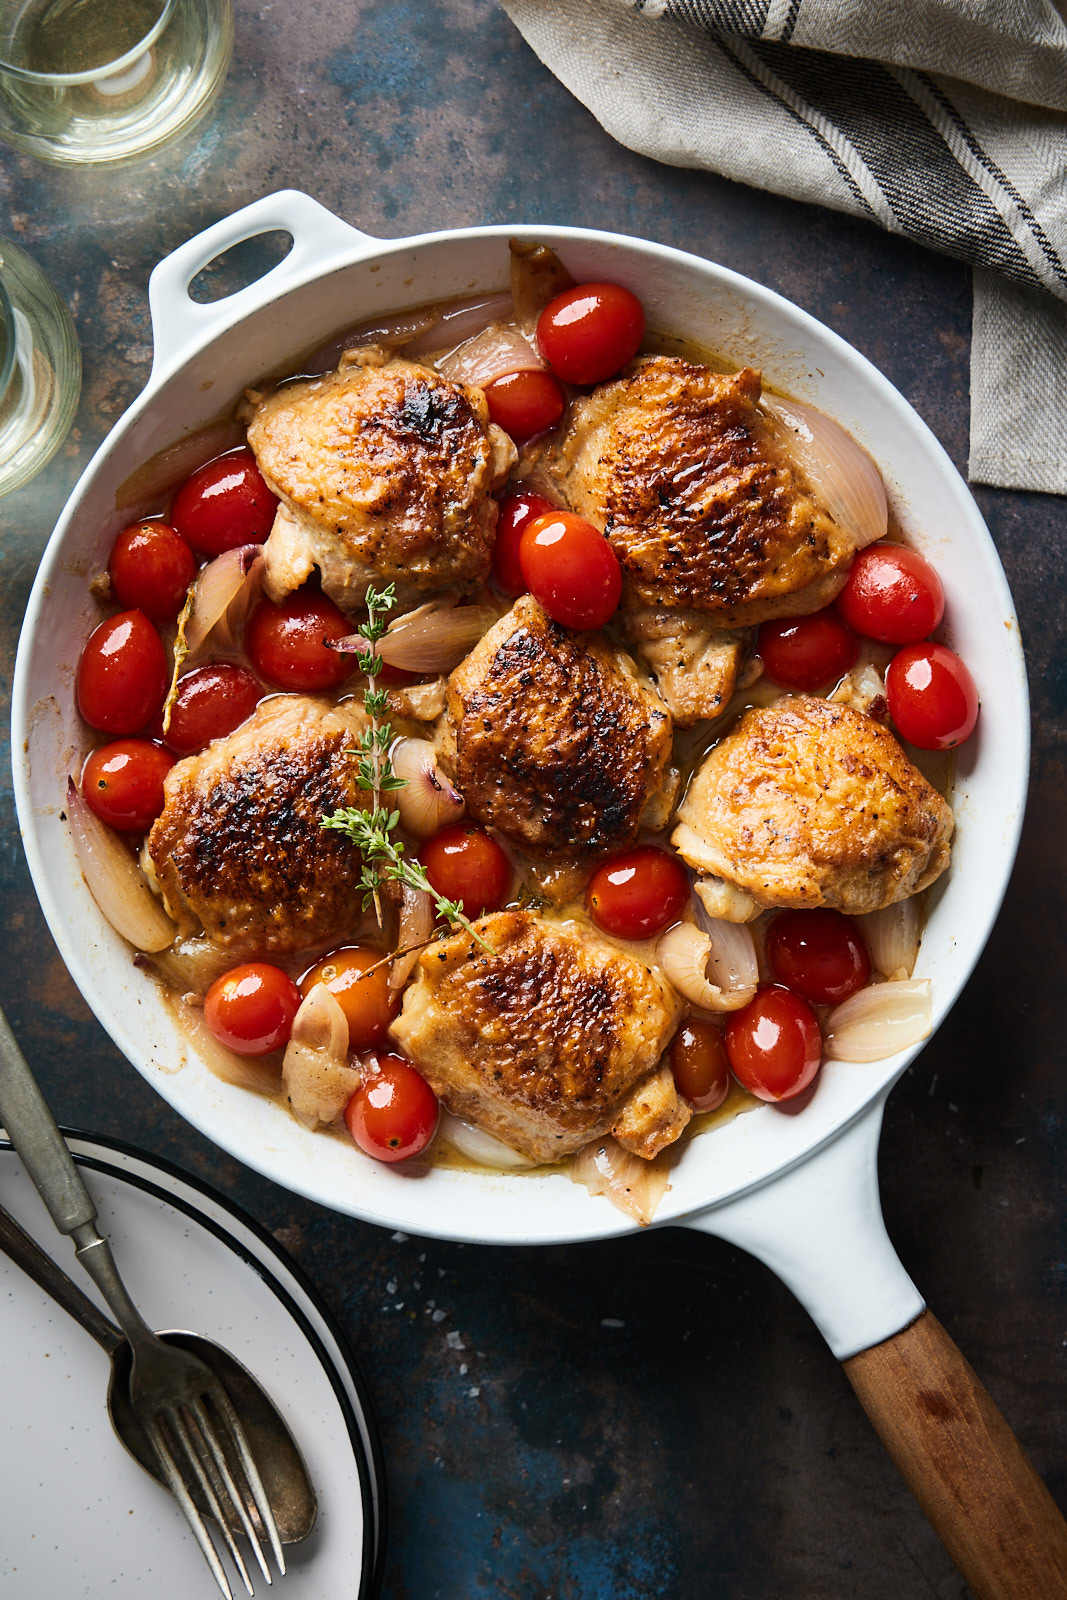
<path id="1" fill-rule="evenodd" d="M 360 803 L 346 752 L 363 725 L 355 704 L 277 694 L 176 762 L 149 854 L 182 933 L 203 926 L 238 958 L 322 944 L 360 922 L 358 851 L 320 822 Z"/>

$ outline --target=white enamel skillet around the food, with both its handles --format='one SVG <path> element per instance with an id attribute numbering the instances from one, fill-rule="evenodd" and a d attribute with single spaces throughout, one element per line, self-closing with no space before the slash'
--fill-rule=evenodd
<path id="1" fill-rule="evenodd" d="M 190 301 L 189 285 L 210 261 L 274 229 L 293 237 L 285 261 L 227 299 L 210 306 Z M 283 373 L 286 363 L 293 370 L 302 354 L 339 330 L 382 312 L 506 288 L 512 234 L 515 229 L 483 227 L 381 242 L 307 195 L 286 190 L 226 218 L 157 266 L 150 280 L 152 376 L 86 467 L 30 597 L 16 664 L 13 750 L 26 853 L 56 942 L 118 1048 L 182 1117 L 248 1166 L 338 1211 L 414 1234 L 526 1245 L 603 1238 L 632 1224 L 560 1174 L 434 1170 L 413 1181 L 363 1160 L 339 1139 L 309 1133 L 280 1106 L 211 1077 L 192 1058 L 154 982 L 134 970 L 128 947 L 96 909 L 62 819 L 66 776 L 77 770 L 85 746 L 74 709 L 74 669 L 98 618 L 86 578 L 104 566 L 115 533 L 138 512 L 117 510 L 122 482 L 163 446 L 224 414 L 246 386 Z M 688 336 L 737 365 L 761 368 L 776 389 L 835 416 L 878 461 L 899 523 L 936 563 L 949 595 L 945 637 L 969 664 L 982 699 L 977 734 L 957 770 L 953 862 L 939 885 L 917 968 L 917 976 L 931 979 L 939 1024 L 997 917 L 1027 786 L 1029 709 L 1019 629 L 974 501 L 896 389 L 837 334 L 777 294 L 641 240 L 541 224 L 525 237 L 553 245 L 579 280 L 630 286 L 653 326 Z M 977 1442 L 963 1358 L 933 1318 L 920 1315 L 923 1299 L 881 1222 L 881 1112 L 913 1056 L 910 1050 L 873 1066 L 833 1062 L 800 1112 L 761 1107 L 694 1139 L 673 1168 L 656 1226 L 683 1222 L 717 1234 L 773 1267 L 811 1312 L 833 1354 L 849 1363 L 857 1387 L 861 1366 L 870 1371 L 875 1360 L 857 1352 L 877 1347 L 896 1365 L 904 1362 L 902 1387 L 886 1400 L 888 1418 L 878 1416 L 878 1395 L 888 1394 L 885 1373 L 875 1382 L 877 1394 L 862 1395 L 864 1403 L 883 1437 L 904 1427 L 904 1445 L 889 1443 L 897 1464 L 912 1446 L 918 1451 L 912 1480 L 921 1480 L 937 1458 L 933 1490 L 921 1482 L 913 1486 L 965 1576 L 979 1595 L 1049 1600 L 1057 1590 L 1046 1579 L 1040 1579 L 1043 1590 L 1017 1587 L 1021 1541 L 1027 1542 L 1022 1534 L 1008 1555 L 1003 1539 L 1013 1518 L 1016 1533 L 1033 1518 L 1048 1518 L 1051 1501 L 1046 1506 L 1025 1480 L 1024 1488 L 1011 1483 L 1011 1506 L 1001 1504 L 1005 1474 L 1017 1478 L 1021 1472 L 1011 1435 L 997 1446 L 1003 1459 L 995 1470 L 971 1482 L 966 1462 Z M 913 1376 L 920 1358 L 936 1358 L 942 1368 L 947 1402 L 941 1410 L 949 1421 L 939 1424 L 937 1437 L 928 1437 L 915 1405 L 917 1384 L 921 1389 L 933 1381 Z M 941 1459 L 947 1435 L 955 1466 Z M 1067 1594 L 1067 1531 L 1062 1523 L 1059 1530 Z M 1048 1528 L 1041 1538 L 1048 1542 Z M 968 1555 L 969 1549 L 979 1555 Z M 982 1587 L 990 1562 L 1016 1587 L 997 1587 L 1000 1576 L 993 1587 Z"/>

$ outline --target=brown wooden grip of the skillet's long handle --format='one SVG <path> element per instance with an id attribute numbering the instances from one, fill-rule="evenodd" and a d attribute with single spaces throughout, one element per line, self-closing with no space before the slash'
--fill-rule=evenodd
<path id="1" fill-rule="evenodd" d="M 841 1365 L 977 1600 L 1067 1600 L 1067 1523 L 937 1318 Z"/>

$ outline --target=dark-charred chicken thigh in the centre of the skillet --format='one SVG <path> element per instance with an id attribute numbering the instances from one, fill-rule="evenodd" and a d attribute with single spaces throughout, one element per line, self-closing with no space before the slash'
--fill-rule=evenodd
<path id="1" fill-rule="evenodd" d="M 632 659 L 533 595 L 453 672 L 438 746 L 470 816 L 534 859 L 629 843 L 677 782 L 670 714 Z"/>

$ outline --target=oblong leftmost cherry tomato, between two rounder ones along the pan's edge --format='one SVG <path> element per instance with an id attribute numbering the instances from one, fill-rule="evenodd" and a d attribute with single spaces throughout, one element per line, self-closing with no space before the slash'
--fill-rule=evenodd
<path id="1" fill-rule="evenodd" d="M 78 710 L 101 733 L 139 733 L 166 699 L 163 640 L 144 611 L 120 611 L 94 629 L 78 661 Z"/>

